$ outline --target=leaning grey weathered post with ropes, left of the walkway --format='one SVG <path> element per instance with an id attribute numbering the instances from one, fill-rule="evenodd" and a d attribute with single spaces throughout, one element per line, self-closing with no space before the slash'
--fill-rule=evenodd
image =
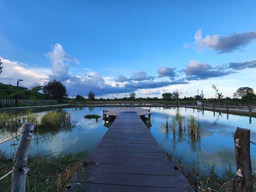
<path id="1" fill-rule="evenodd" d="M 11 192 L 25 192 L 26 176 L 29 170 L 28 153 L 34 131 L 34 123 L 22 124 L 20 142 L 12 164 Z"/>

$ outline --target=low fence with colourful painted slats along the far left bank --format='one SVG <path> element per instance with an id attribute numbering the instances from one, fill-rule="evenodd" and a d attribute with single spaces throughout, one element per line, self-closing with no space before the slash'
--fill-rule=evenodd
<path id="1" fill-rule="evenodd" d="M 1 106 L 14 106 L 16 102 L 16 99 L 0 99 Z M 18 99 L 18 104 L 43 104 L 43 103 L 57 103 L 58 100 L 46 100 L 46 99 L 40 99 L 40 100 L 34 100 L 34 99 Z"/>

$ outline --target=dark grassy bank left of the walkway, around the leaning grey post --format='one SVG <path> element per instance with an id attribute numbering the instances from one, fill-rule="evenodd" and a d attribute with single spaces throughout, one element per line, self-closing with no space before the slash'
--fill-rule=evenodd
<path id="1" fill-rule="evenodd" d="M 26 190 L 34 192 L 60 192 L 63 186 L 84 160 L 87 152 L 76 154 L 59 154 L 54 157 L 40 156 L 28 158 Z M 13 159 L 0 158 L 0 176 L 8 173 L 12 168 Z M 37 174 L 35 174 L 37 172 Z M 1 182 L 1 192 L 9 192 L 12 182 L 12 174 Z"/>

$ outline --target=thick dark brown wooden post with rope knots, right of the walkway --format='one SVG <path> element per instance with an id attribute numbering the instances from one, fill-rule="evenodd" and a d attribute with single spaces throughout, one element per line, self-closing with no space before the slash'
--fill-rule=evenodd
<path id="1" fill-rule="evenodd" d="M 250 157 L 250 130 L 237 128 L 234 135 L 236 176 L 233 192 L 252 192 L 252 164 Z"/>

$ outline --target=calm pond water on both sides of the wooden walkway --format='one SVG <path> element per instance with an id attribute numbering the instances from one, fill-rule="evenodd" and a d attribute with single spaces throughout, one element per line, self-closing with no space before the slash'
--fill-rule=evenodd
<path id="1" fill-rule="evenodd" d="M 98 114 L 103 116 L 104 107 L 82 107 L 63 109 L 71 113 L 71 121 L 76 122 L 76 126 L 70 131 L 63 132 L 39 132 L 38 152 L 40 155 L 53 155 L 56 153 L 75 153 L 83 150 L 94 150 L 108 128 L 104 126 L 104 120 L 99 118 L 85 119 L 86 114 Z M 192 166 L 193 160 L 200 162 L 201 170 L 208 171 L 208 163 L 216 164 L 216 170 L 229 165 L 229 157 L 235 169 L 234 158 L 234 133 L 237 127 L 251 130 L 251 140 L 256 141 L 256 118 L 246 116 L 236 116 L 218 112 L 202 111 L 180 108 L 179 113 L 184 116 L 193 115 L 201 121 L 201 138 L 193 139 L 186 132 L 176 130 L 174 136 L 172 129 L 172 116 L 176 115 L 177 108 L 151 108 L 150 131 L 158 143 L 167 152 L 172 152 L 174 156 L 182 162 Z M 45 113 L 45 112 L 44 112 Z M 166 129 L 165 115 L 169 115 L 169 128 Z M 228 118 L 228 119 L 227 119 Z M 35 133 L 36 134 L 36 133 Z M 10 132 L 0 132 L 1 140 L 10 136 Z M 30 155 L 36 156 L 37 145 L 36 135 L 30 148 Z M 18 138 L 0 144 L 9 156 L 15 153 L 13 143 L 18 143 Z M 17 146 L 15 146 L 17 148 Z M 252 167 L 254 168 L 256 159 L 256 145 L 251 144 L 250 148 Z M 202 163 L 202 164 L 201 164 Z M 255 165 L 256 166 L 256 165 Z"/>

